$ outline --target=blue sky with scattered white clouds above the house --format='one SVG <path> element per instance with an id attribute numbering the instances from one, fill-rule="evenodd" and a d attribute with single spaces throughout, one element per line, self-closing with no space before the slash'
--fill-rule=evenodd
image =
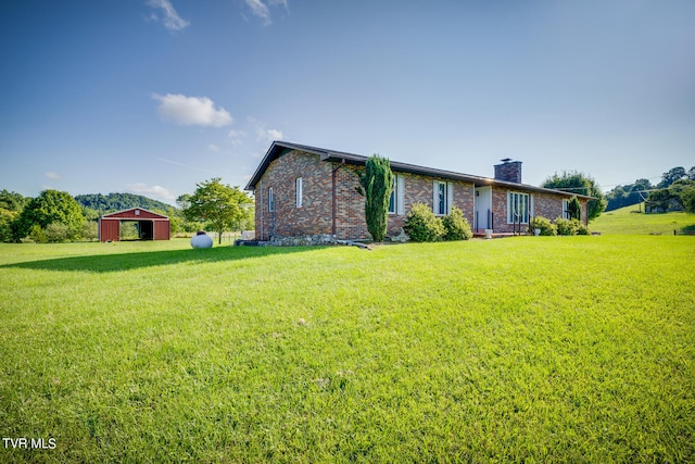
<path id="1" fill-rule="evenodd" d="M 694 23 L 692 0 L 0 0 L 0 189 L 174 204 L 283 139 L 609 190 L 695 165 Z"/>

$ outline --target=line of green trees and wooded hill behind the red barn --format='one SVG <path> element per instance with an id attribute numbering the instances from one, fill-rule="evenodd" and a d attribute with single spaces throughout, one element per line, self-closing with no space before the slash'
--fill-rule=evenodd
<path id="1" fill-rule="evenodd" d="M 214 178 L 197 185 L 191 196 L 185 193 L 173 206 L 132 193 L 93 193 L 71 196 L 47 189 L 38 197 L 0 191 L 0 242 L 63 242 L 96 240 L 98 220 L 115 211 L 141 208 L 169 217 L 172 235 L 197 230 L 253 228 L 253 199 Z"/>

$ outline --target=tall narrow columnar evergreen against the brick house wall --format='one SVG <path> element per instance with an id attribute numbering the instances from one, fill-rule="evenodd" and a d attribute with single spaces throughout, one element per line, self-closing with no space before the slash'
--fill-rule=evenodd
<path id="1" fill-rule="evenodd" d="M 393 188 L 391 162 L 378 154 L 369 156 L 364 173 L 359 173 L 357 192 L 365 197 L 365 221 L 374 241 L 387 236 L 389 199 Z"/>

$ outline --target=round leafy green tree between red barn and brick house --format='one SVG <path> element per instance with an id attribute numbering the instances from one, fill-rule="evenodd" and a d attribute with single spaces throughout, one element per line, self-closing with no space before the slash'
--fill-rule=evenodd
<path id="1" fill-rule="evenodd" d="M 215 177 L 197 184 L 195 192 L 188 199 L 189 205 L 184 210 L 188 221 L 210 223 L 218 234 L 218 243 L 225 230 L 238 230 L 251 215 L 253 200 L 239 187 L 220 184 Z"/>

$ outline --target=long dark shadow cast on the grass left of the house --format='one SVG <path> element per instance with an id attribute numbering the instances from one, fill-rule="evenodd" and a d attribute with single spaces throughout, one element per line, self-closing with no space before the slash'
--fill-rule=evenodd
<path id="1" fill-rule="evenodd" d="M 28 261 L 0 265 L 0 268 L 23 268 L 41 271 L 84 271 L 113 273 L 143 267 L 166 266 L 180 263 L 237 261 L 274 254 L 299 253 L 315 248 L 303 247 L 219 247 L 208 249 L 144 251 L 135 253 L 96 254 Z"/>

